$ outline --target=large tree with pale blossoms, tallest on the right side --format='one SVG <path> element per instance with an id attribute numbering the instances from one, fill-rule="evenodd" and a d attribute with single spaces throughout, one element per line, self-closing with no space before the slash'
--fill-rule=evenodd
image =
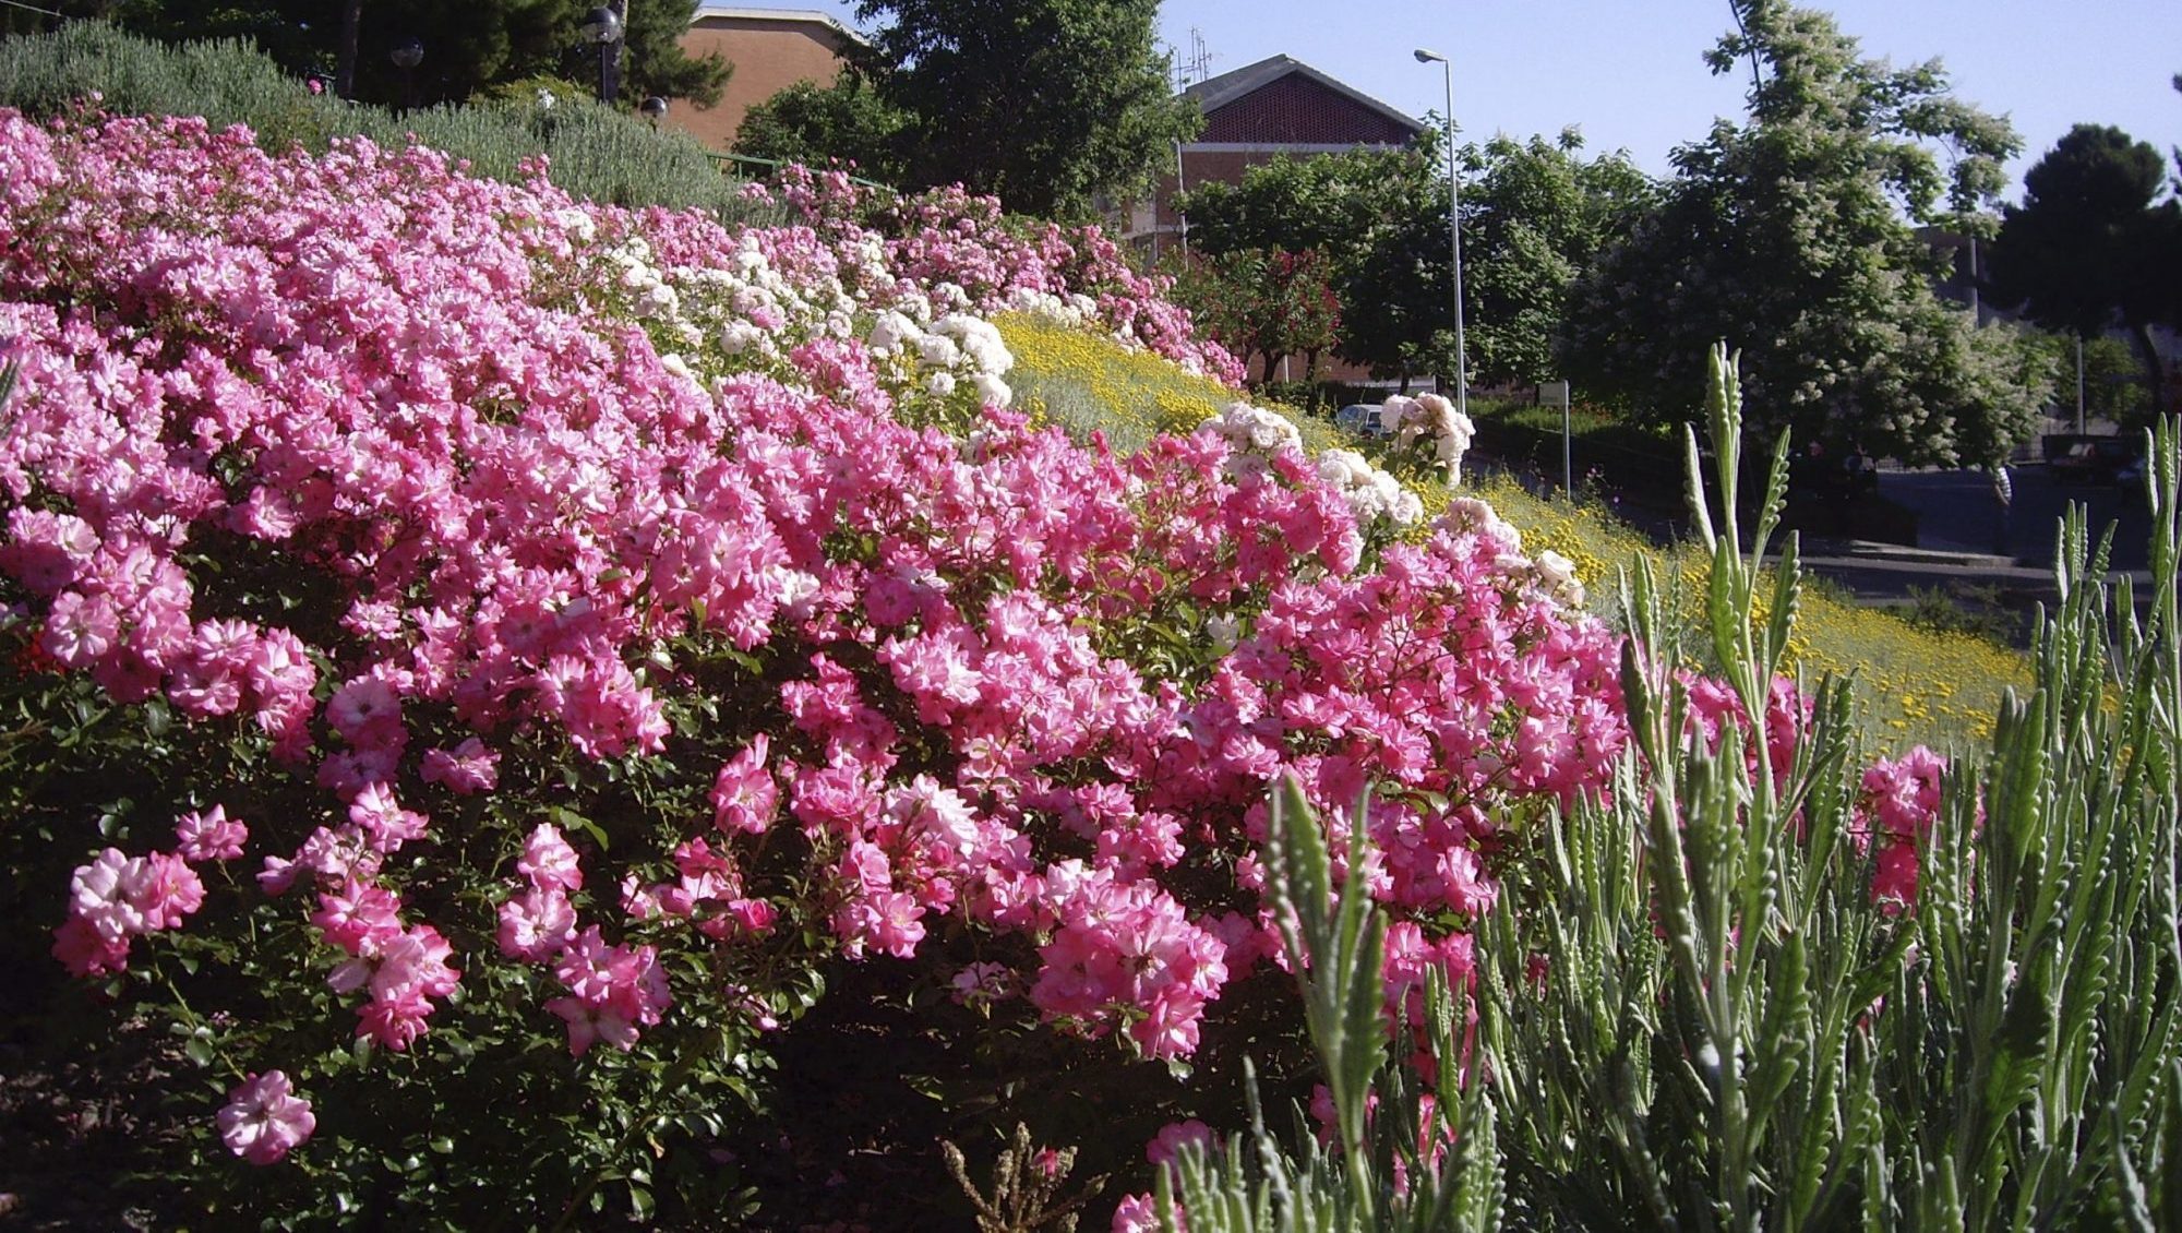
<path id="1" fill-rule="evenodd" d="M 1750 118 L 1678 148 L 1661 207 L 1578 282 L 1564 369 L 1636 417 L 1685 421 L 1724 338 L 1743 349 L 1759 432 L 1999 460 L 2031 430 L 2036 351 L 1938 299 L 1942 258 L 1911 220 L 1990 199 L 2014 131 L 1955 100 L 1938 61 L 1863 59 L 1829 15 L 1783 0 L 1735 9 L 1739 33 L 1706 61 L 1750 59 Z"/>

